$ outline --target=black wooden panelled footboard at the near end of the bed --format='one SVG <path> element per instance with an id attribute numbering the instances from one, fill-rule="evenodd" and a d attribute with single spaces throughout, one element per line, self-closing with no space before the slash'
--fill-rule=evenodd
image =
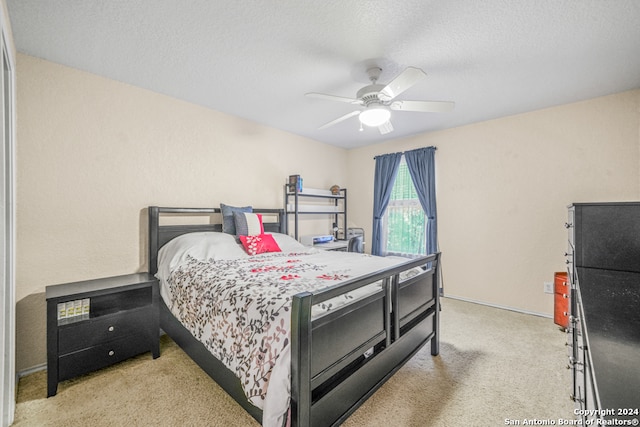
<path id="1" fill-rule="evenodd" d="M 291 418 L 298 427 L 337 425 L 431 341 L 439 352 L 440 254 L 293 297 Z M 401 273 L 425 271 L 401 280 Z M 312 307 L 382 280 L 382 289 L 312 319 Z"/>

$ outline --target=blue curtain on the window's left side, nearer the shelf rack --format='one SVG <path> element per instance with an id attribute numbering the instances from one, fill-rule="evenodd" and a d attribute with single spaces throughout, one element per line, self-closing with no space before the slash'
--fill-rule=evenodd
<path id="1" fill-rule="evenodd" d="M 376 172 L 373 180 L 373 231 L 371 254 L 382 255 L 382 216 L 387 209 L 393 183 L 398 174 L 402 153 L 376 156 Z"/>

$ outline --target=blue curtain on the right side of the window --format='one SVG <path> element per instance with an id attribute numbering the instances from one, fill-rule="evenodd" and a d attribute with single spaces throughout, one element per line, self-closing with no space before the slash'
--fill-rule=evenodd
<path id="1" fill-rule="evenodd" d="M 435 147 L 426 147 L 404 153 L 418 200 L 427 215 L 427 254 L 438 252 L 435 151 Z"/>

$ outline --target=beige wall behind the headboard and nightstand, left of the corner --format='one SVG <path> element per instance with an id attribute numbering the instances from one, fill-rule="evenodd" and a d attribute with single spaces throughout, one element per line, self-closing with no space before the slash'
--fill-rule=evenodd
<path id="1" fill-rule="evenodd" d="M 46 361 L 45 286 L 147 269 L 147 206 L 278 208 L 290 174 L 309 187 L 346 181 L 345 150 L 30 56 L 17 62 L 18 371 Z"/>

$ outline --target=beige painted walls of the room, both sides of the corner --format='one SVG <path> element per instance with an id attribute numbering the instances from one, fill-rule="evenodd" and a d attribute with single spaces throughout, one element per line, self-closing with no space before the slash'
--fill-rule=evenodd
<path id="1" fill-rule="evenodd" d="M 299 173 L 370 238 L 373 157 L 435 145 L 445 293 L 549 315 L 566 206 L 640 199 L 640 91 L 345 151 L 17 59 L 18 371 L 46 361 L 46 285 L 146 270 L 151 204 L 281 207 Z"/>

